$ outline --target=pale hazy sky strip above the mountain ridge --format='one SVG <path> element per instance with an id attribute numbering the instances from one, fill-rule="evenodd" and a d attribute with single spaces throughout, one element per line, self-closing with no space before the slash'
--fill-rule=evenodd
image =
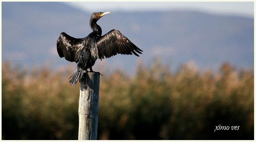
<path id="1" fill-rule="evenodd" d="M 254 2 L 65 2 L 86 12 L 194 10 L 254 17 Z"/>

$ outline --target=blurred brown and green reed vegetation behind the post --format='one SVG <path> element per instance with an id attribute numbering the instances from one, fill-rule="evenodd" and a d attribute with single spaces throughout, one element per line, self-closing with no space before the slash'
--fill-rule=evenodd
<path id="1" fill-rule="evenodd" d="M 76 140 L 80 86 L 69 85 L 73 72 L 2 63 L 2 139 Z M 219 125 L 230 128 L 215 130 Z M 138 63 L 132 77 L 104 72 L 98 139 L 254 139 L 253 69 L 223 63 L 213 74 L 186 64 L 172 73 L 156 60 Z"/>

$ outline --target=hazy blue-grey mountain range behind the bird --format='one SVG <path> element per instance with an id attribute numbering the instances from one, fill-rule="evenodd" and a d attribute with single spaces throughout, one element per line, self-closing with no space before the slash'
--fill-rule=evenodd
<path id="1" fill-rule="evenodd" d="M 60 2 L 2 2 L 2 61 L 27 67 L 67 65 L 70 62 L 58 56 L 57 39 L 61 32 L 87 36 L 91 14 Z M 102 34 L 117 29 L 144 52 L 140 57 L 97 60 L 96 67 L 104 63 L 132 74 L 139 59 L 148 64 L 154 58 L 171 62 L 172 69 L 190 60 L 202 70 L 216 70 L 224 61 L 237 67 L 254 65 L 253 19 L 193 11 L 112 12 L 97 23 Z"/>

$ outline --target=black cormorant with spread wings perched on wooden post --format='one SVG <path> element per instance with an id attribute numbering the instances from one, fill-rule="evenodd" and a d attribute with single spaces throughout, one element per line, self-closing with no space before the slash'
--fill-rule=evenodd
<path id="1" fill-rule="evenodd" d="M 77 63 L 77 69 L 70 76 L 70 85 L 74 85 L 81 81 L 84 71 L 87 68 L 92 71 L 96 59 L 104 59 L 115 56 L 116 54 L 126 54 L 139 56 L 136 52 L 142 54 L 136 45 L 134 45 L 127 37 L 122 35 L 118 30 L 111 30 L 107 34 L 101 36 L 101 28 L 97 25 L 97 21 L 110 12 L 92 13 L 90 26 L 92 33 L 85 38 L 74 38 L 66 33 L 61 33 L 57 41 L 57 51 L 60 58 L 65 57 L 70 62 Z M 135 52 L 136 51 L 136 52 Z"/>

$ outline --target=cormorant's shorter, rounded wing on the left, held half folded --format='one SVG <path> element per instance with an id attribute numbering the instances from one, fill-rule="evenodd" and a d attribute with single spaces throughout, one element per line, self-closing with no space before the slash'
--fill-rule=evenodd
<path id="1" fill-rule="evenodd" d="M 84 47 L 82 38 L 74 38 L 66 33 L 61 33 L 57 41 L 57 51 L 60 58 L 65 57 L 70 62 L 78 62 Z"/>

